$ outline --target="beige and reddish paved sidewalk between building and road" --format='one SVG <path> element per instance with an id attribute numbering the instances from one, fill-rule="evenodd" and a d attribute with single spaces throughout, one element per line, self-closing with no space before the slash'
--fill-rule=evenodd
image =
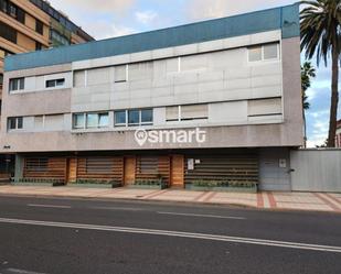
<path id="1" fill-rule="evenodd" d="M 341 194 L 322 193 L 213 193 L 182 189 L 79 188 L 47 186 L 0 186 L 0 195 L 136 199 L 234 205 L 265 209 L 311 210 L 341 213 Z"/>

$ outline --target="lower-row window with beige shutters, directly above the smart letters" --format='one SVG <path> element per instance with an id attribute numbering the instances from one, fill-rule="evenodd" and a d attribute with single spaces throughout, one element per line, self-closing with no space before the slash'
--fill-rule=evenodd
<path id="1" fill-rule="evenodd" d="M 209 118 L 207 105 L 189 105 L 166 108 L 166 121 L 190 121 Z"/>

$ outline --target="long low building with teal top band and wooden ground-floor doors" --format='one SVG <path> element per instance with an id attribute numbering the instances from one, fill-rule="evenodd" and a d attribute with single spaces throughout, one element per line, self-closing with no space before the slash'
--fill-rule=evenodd
<path id="1" fill-rule="evenodd" d="M 299 6 L 9 56 L 4 87 L 17 178 L 290 189 Z"/>

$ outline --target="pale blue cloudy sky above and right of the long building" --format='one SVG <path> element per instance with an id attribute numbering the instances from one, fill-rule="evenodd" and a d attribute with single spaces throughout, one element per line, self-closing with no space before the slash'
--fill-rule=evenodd
<path id="1" fill-rule="evenodd" d="M 157 30 L 205 19 L 262 10 L 295 0 L 50 0 L 97 40 Z M 316 64 L 315 64 L 316 65 Z M 320 65 L 308 91 L 308 144 L 322 144 L 328 135 L 330 68 Z M 341 114 L 341 108 L 339 117 Z"/>

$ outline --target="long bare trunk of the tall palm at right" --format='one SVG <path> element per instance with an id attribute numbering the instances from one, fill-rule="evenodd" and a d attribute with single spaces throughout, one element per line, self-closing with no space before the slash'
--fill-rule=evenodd
<path id="1" fill-rule="evenodd" d="M 339 106 L 339 54 L 335 46 L 333 46 L 328 147 L 335 147 L 338 106 Z"/>

